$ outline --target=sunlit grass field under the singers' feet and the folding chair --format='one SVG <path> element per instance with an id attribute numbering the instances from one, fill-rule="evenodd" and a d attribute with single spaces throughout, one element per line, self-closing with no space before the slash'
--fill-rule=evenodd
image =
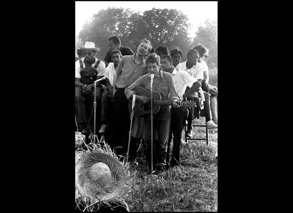
<path id="1" fill-rule="evenodd" d="M 204 124 L 204 117 L 194 124 Z M 196 137 L 205 136 L 205 128 L 193 129 Z M 183 136 L 184 139 L 184 131 Z M 166 171 L 158 179 L 148 179 L 142 147 L 131 172 L 136 172 L 131 191 L 125 201 L 130 211 L 218 211 L 218 130 L 209 130 L 205 141 L 188 141 L 190 147 L 181 151 L 180 167 Z M 171 143 L 172 145 L 172 143 Z"/>

